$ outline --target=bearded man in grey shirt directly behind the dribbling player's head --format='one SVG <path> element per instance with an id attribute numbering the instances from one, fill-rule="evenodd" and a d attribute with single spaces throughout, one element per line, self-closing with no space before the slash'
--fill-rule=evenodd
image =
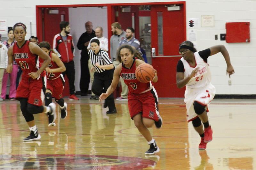
<path id="1" fill-rule="evenodd" d="M 121 41 L 119 45 L 121 46 L 123 44 L 129 44 L 130 46 L 134 47 L 136 50 L 140 52 L 140 41 L 134 38 L 134 29 L 132 27 L 128 27 L 126 29 L 125 37 L 126 39 Z"/>

